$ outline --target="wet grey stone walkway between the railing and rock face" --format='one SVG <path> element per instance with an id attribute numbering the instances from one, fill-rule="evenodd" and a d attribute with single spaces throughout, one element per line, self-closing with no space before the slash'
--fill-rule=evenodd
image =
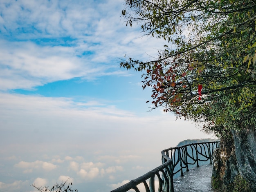
<path id="1" fill-rule="evenodd" d="M 202 165 L 191 168 L 173 180 L 175 192 L 214 192 L 211 188 L 213 165 Z"/>

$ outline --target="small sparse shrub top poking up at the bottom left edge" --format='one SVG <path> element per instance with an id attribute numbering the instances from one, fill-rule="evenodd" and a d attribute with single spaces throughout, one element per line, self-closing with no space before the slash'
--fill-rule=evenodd
<path id="1" fill-rule="evenodd" d="M 68 180 L 67 180 L 68 181 Z M 70 187 L 70 185 L 72 185 L 72 183 L 68 183 L 67 181 L 65 182 L 61 182 L 56 183 L 51 189 L 49 189 L 49 187 L 45 186 L 45 187 L 37 187 L 36 185 L 31 185 L 34 188 L 36 188 L 39 192 L 78 192 L 78 190 L 74 189 L 72 190 L 72 188 Z"/>

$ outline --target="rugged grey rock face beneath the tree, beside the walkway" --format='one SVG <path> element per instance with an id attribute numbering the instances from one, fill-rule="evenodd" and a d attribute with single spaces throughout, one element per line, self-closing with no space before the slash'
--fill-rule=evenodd
<path id="1" fill-rule="evenodd" d="M 232 131 L 213 155 L 213 188 L 223 192 L 256 191 L 256 131 Z"/>

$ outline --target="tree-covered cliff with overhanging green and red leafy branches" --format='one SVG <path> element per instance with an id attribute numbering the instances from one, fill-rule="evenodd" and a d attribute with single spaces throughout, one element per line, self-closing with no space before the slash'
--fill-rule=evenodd
<path id="1" fill-rule="evenodd" d="M 140 23 L 166 45 L 156 60 L 121 67 L 144 72 L 153 108 L 220 137 L 227 158 L 218 157 L 225 168 L 215 178 L 227 191 L 238 175 L 256 190 L 255 11 L 255 0 L 126 0 L 122 11 L 127 25 Z"/>

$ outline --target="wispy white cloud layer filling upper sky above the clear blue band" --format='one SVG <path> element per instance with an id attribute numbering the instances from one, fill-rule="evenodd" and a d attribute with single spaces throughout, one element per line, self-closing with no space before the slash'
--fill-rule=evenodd
<path id="1" fill-rule="evenodd" d="M 75 77 L 128 76 L 128 71 L 119 69 L 117 58 L 125 54 L 148 58 L 157 54 L 153 47 L 162 43 L 137 38 L 136 27 L 122 25 L 123 8 L 121 0 L 92 4 L 1 1 L 0 30 L 18 40 L 0 41 L 0 82 L 4 82 L 0 90 L 32 89 Z"/>

